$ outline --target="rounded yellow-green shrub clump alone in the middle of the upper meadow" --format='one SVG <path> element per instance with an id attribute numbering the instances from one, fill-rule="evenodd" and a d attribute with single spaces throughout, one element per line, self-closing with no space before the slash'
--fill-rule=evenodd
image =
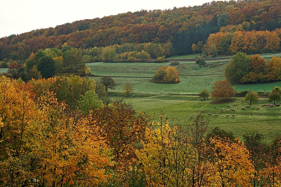
<path id="1" fill-rule="evenodd" d="M 156 71 L 151 82 L 162 84 L 174 84 L 179 83 L 179 72 L 176 67 L 161 66 Z"/>

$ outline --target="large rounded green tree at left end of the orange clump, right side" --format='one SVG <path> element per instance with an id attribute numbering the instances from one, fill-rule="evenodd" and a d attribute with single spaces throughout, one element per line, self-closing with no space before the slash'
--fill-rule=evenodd
<path id="1" fill-rule="evenodd" d="M 229 82 L 240 82 L 250 72 L 250 58 L 246 53 L 238 52 L 225 67 L 225 77 Z"/>

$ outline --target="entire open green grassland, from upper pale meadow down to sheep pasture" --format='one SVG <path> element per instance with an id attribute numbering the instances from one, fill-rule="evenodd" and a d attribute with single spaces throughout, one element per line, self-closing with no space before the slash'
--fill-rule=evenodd
<path id="1" fill-rule="evenodd" d="M 263 56 L 271 58 L 276 54 Z M 212 104 L 210 98 L 204 102 L 200 101 L 198 96 L 188 95 L 198 94 L 204 88 L 211 91 L 213 82 L 225 79 L 224 68 L 228 62 L 229 60 L 208 61 L 202 68 L 194 62 L 180 62 L 180 65 L 176 66 L 181 79 L 178 84 L 155 84 L 149 81 L 158 67 L 168 66 L 169 63 L 90 63 L 87 66 L 91 68 L 92 74 L 97 75 L 92 77 L 94 80 L 99 80 L 103 75 L 112 76 L 119 85 L 115 90 L 109 90 L 109 96 L 112 99 L 123 98 L 126 102 L 131 102 L 136 111 L 155 113 L 155 117 L 162 111 L 169 119 L 178 119 L 184 125 L 190 122 L 191 115 L 204 108 L 205 112 L 220 113 L 217 117 L 205 115 L 210 117 L 210 126 L 232 131 L 240 138 L 246 132 L 258 131 L 265 134 L 270 141 L 270 138 L 281 133 L 281 108 L 262 108 L 262 104 L 268 103 L 265 98 L 253 103 L 254 109 L 241 110 L 244 105 L 249 105 L 243 98 L 233 98 L 232 103 Z M 122 93 L 126 82 L 134 87 L 134 93 L 128 98 Z M 238 91 L 271 91 L 274 86 L 281 87 L 281 82 L 233 86 Z M 214 108 L 227 108 L 228 104 L 233 106 L 234 103 L 238 104 L 235 108 L 239 109 L 236 111 L 222 113 L 220 109 Z M 259 110 L 256 109 L 257 106 L 260 107 Z M 236 116 L 226 117 L 226 114 Z"/>

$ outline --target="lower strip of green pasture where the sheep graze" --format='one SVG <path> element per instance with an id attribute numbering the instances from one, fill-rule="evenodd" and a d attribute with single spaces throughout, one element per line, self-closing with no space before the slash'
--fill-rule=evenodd
<path id="1" fill-rule="evenodd" d="M 257 131 L 263 133 L 267 137 L 267 141 L 281 133 L 281 108 L 262 108 L 261 105 L 268 103 L 266 99 L 261 98 L 258 102 L 252 103 L 251 107 L 241 110 L 249 102 L 243 101 L 243 98 L 234 98 L 234 102 L 223 104 L 212 104 L 212 100 L 200 101 L 198 96 L 183 96 L 183 95 L 149 95 L 149 94 L 132 94 L 127 98 L 123 94 L 111 93 L 112 98 L 123 98 L 126 102 L 131 102 L 136 111 L 142 111 L 147 114 L 155 113 L 158 115 L 163 112 L 165 117 L 169 117 L 171 121 L 177 119 L 181 125 L 186 125 L 192 122 L 190 116 L 196 115 L 201 110 L 205 111 L 204 118 L 209 118 L 210 127 L 220 127 L 228 131 L 232 131 L 237 137 L 242 138 L 247 132 Z M 237 106 L 233 104 L 237 103 Z M 226 108 L 227 105 L 232 105 L 236 111 L 221 112 L 221 108 Z M 256 107 L 260 109 L 256 109 Z M 218 107 L 219 109 L 215 109 Z M 219 112 L 219 116 L 207 115 L 207 112 Z M 226 117 L 226 114 L 236 114 L 235 117 Z"/>

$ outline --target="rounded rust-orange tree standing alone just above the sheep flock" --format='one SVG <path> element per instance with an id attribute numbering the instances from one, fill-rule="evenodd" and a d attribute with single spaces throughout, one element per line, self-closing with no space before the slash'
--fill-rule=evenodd
<path id="1" fill-rule="evenodd" d="M 234 95 L 234 88 L 231 86 L 231 83 L 226 79 L 214 82 L 213 84 L 213 91 L 211 92 L 211 96 L 213 98 L 224 99 L 232 97 Z"/>

